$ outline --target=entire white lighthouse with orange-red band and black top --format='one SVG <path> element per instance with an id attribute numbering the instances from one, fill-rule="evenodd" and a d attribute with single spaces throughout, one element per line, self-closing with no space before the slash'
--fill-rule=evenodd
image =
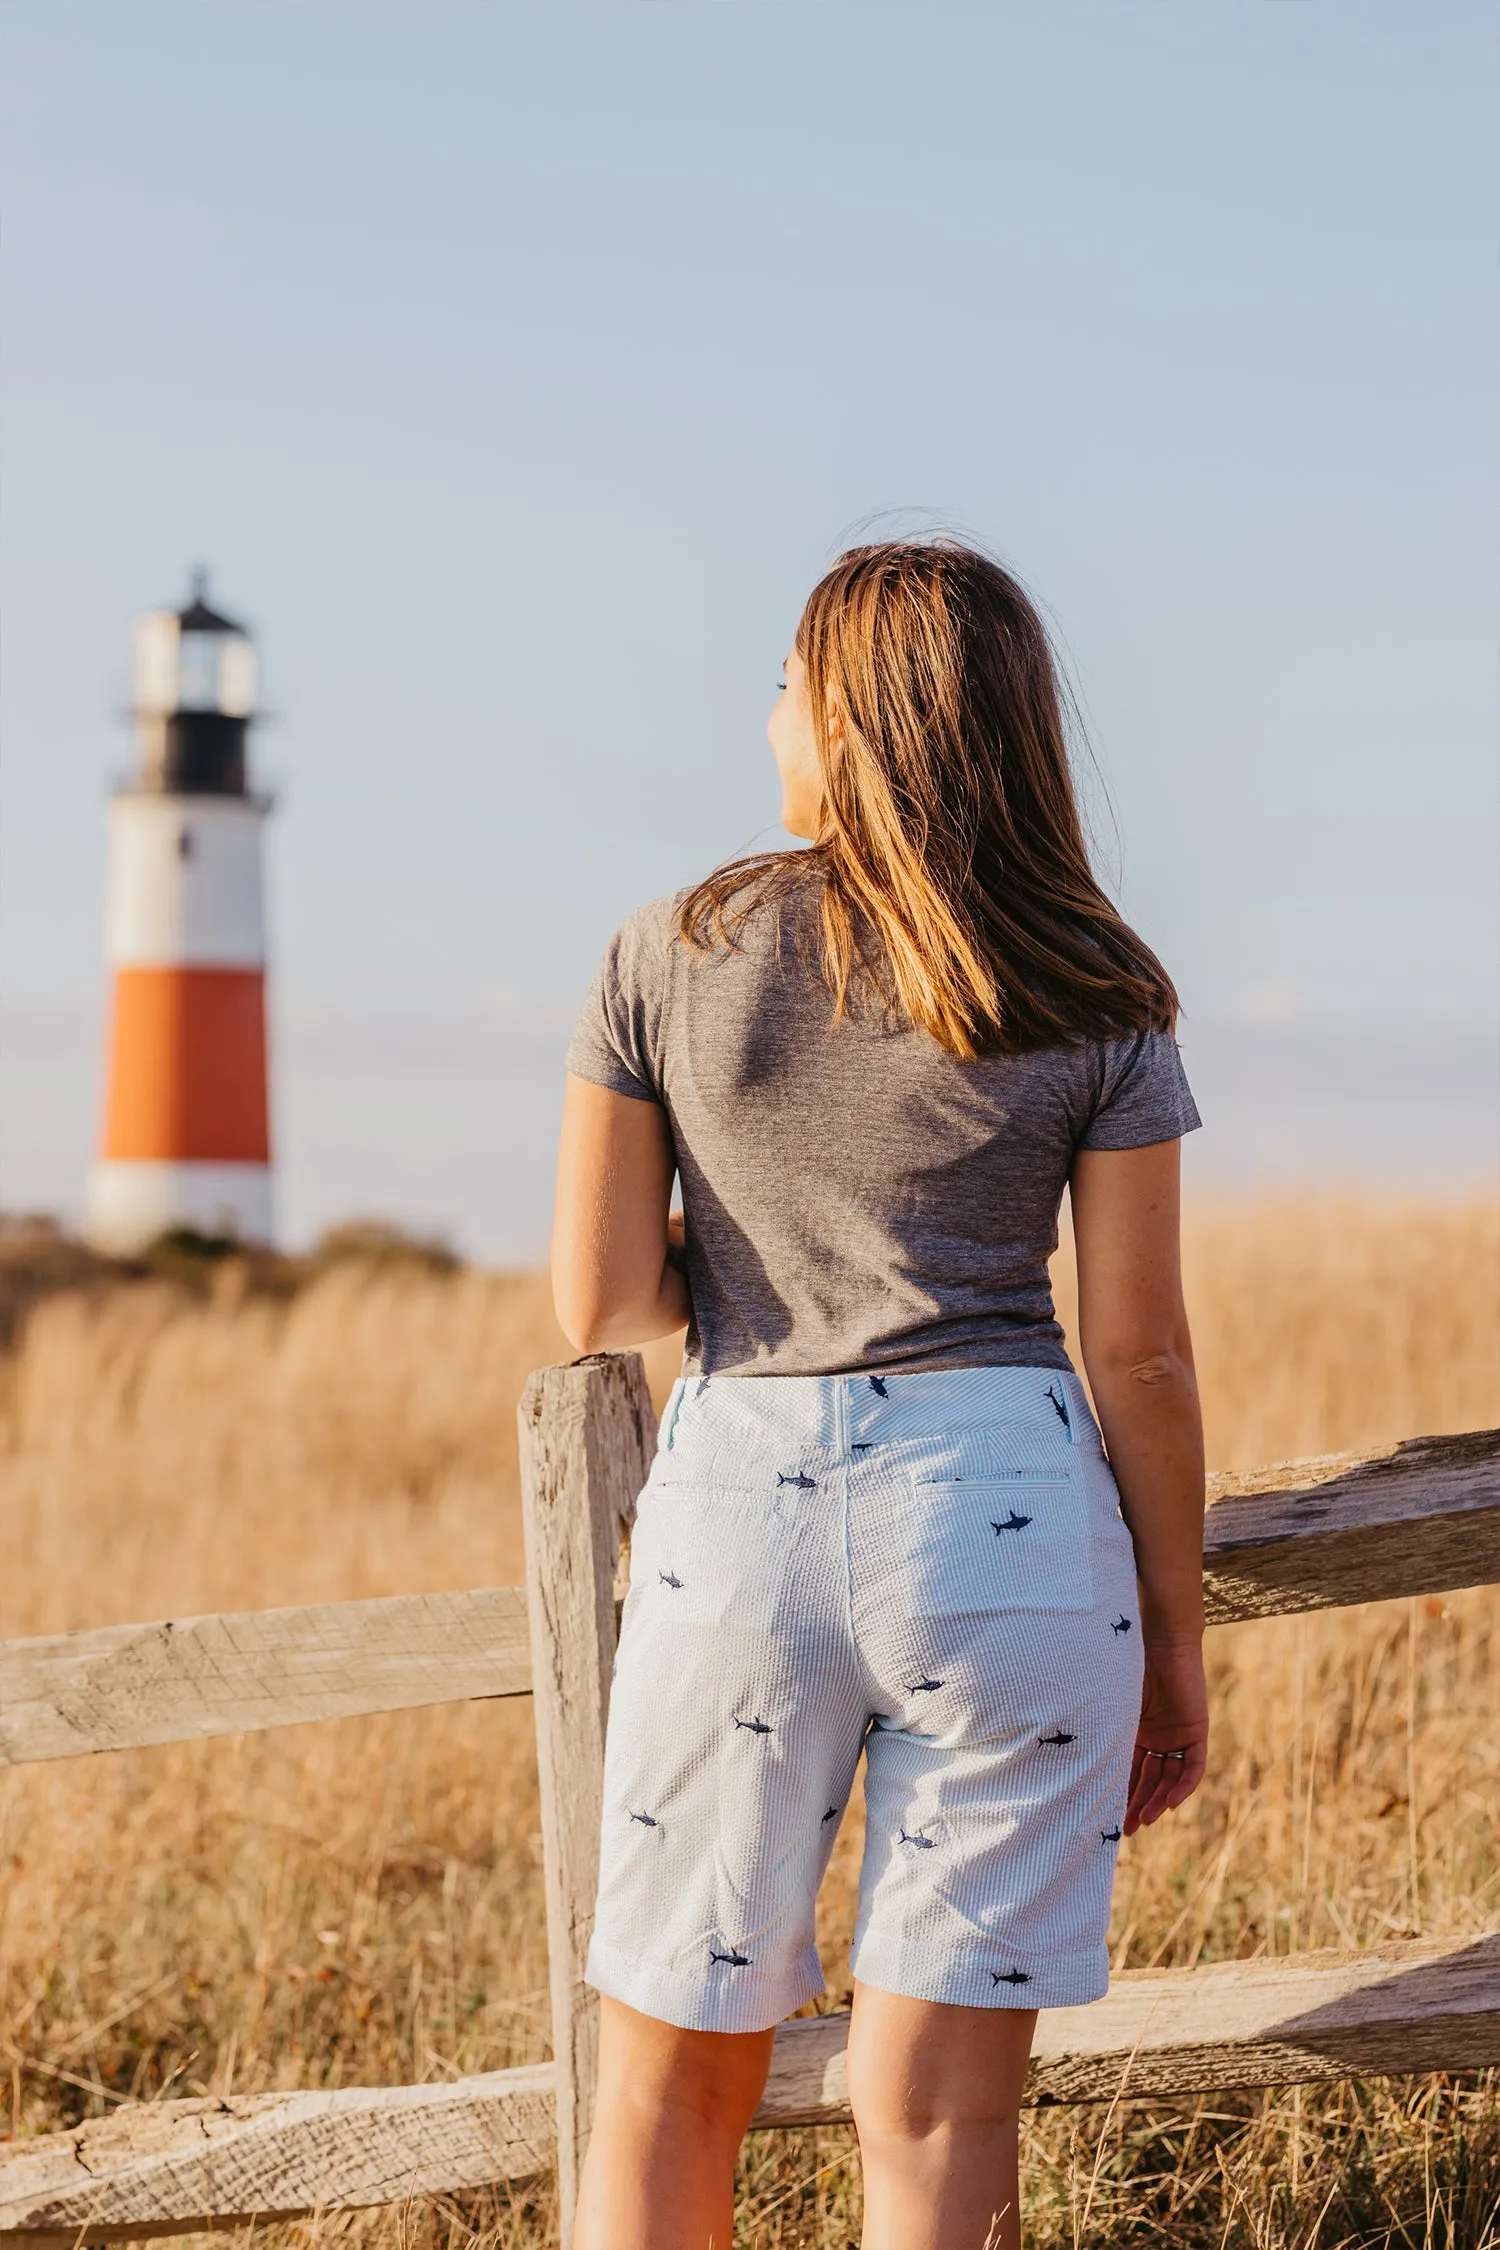
<path id="1" fill-rule="evenodd" d="M 139 1251 L 173 1226 L 270 1242 L 265 916 L 250 783 L 250 634 L 193 583 L 135 621 L 139 765 L 110 799 L 110 1042 L 88 1238 Z"/>

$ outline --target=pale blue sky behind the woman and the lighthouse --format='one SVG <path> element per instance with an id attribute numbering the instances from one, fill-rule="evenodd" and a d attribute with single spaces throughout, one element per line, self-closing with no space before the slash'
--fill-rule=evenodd
<path id="1" fill-rule="evenodd" d="M 776 842 L 807 587 L 938 526 L 1055 628 L 1223 1163 L 1282 1071 L 1273 1168 L 1482 1168 L 1496 79 L 1473 0 L 7 0 L 0 1202 L 81 1192 L 191 565 L 263 659 L 288 1231 L 528 1256 L 605 938 Z"/>

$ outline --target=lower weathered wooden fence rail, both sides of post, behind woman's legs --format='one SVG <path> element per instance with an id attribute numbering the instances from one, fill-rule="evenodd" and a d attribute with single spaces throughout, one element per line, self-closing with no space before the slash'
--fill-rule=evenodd
<path id="1" fill-rule="evenodd" d="M 1048 2009 L 1030 2104 L 1293 2086 L 1496 2059 L 1500 1937 L 1127 1971 Z M 756 2126 L 848 2124 L 848 2012 L 787 2023 Z M 553 2066 L 448 2086 L 133 2104 L 20 2142 L 0 2167 L 7 2243 L 184 2234 L 522 2180 L 555 2158 Z"/>

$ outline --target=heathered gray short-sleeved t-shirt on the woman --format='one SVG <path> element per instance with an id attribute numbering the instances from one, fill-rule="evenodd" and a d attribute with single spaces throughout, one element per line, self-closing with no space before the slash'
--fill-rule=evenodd
<path id="1" fill-rule="evenodd" d="M 1073 1154 L 1194 1130 L 1176 1040 L 963 1062 L 879 1008 L 834 1019 L 812 886 L 713 952 L 677 936 L 686 896 L 612 938 L 567 1058 L 668 1114 L 686 1368 L 1066 1368 L 1048 1258 Z"/>

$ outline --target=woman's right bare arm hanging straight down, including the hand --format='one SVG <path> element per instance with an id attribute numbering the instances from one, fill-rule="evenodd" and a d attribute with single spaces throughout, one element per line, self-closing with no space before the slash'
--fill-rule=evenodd
<path id="1" fill-rule="evenodd" d="M 1208 1755 L 1203 1420 L 1178 1258 L 1178 1143 L 1079 1150 L 1070 1192 L 1079 1346 L 1140 1577 L 1147 1676 L 1131 1832 L 1192 1796 Z"/>

